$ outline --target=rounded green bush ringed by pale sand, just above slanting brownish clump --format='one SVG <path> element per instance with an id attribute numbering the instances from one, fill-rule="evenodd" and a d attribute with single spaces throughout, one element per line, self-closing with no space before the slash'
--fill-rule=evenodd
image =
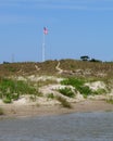
<path id="1" fill-rule="evenodd" d="M 59 89 L 59 92 L 62 93 L 65 97 L 68 97 L 68 98 L 74 98 L 75 97 L 75 94 L 74 94 L 74 92 L 72 91 L 71 88 L 65 87 L 63 89 Z"/>

